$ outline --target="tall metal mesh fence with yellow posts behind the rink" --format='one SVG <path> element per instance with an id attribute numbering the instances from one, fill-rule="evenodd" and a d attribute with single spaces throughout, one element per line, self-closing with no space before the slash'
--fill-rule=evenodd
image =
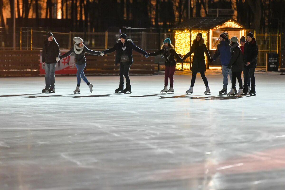
<path id="1" fill-rule="evenodd" d="M 46 31 L 32 30 L 32 28 L 17 28 L 16 46 L 18 50 L 41 49 L 43 41 L 46 39 Z M 111 32 L 52 32 L 61 49 L 69 49 L 73 46 L 73 38 L 81 37 L 84 44 L 94 50 L 104 50 L 113 47 L 120 37 L 119 33 Z M 0 28 L 0 49 L 12 49 L 13 42 L 11 31 Z M 170 38 L 174 43 L 174 33 L 172 32 L 131 32 L 127 31 L 127 36 L 140 48 L 147 52 L 157 51 L 165 38 Z M 283 36 L 282 36 L 283 37 Z M 266 53 L 279 53 L 281 47 L 280 34 L 257 34 L 256 41 L 259 47 L 258 66 L 266 66 Z M 4 43 L 5 42 L 5 43 Z"/>

